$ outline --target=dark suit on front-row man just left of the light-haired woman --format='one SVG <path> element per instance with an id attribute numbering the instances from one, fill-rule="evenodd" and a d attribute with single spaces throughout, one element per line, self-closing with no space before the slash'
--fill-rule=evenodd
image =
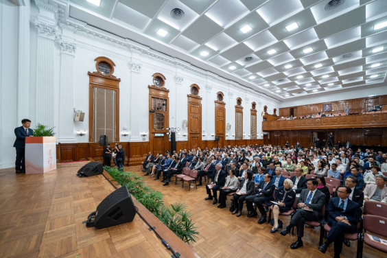
<path id="1" fill-rule="evenodd" d="M 259 209 L 259 212 L 261 213 L 262 217 L 266 218 L 266 211 L 265 208 L 263 208 L 262 204 L 266 204 L 267 206 L 272 205 L 272 202 L 270 200 L 273 200 L 273 192 L 275 185 L 270 181 L 266 187 L 266 182 L 261 181 L 257 187 L 255 187 L 255 195 L 248 196 L 246 198 L 246 206 L 248 211 L 254 211 L 253 202 L 255 205 L 257 205 L 257 208 Z M 259 190 L 261 189 L 261 190 Z"/>

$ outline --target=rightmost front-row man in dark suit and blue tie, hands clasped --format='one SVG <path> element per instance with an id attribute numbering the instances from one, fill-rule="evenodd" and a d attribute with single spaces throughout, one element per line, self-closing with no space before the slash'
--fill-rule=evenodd
<path id="1" fill-rule="evenodd" d="M 329 244 L 335 243 L 335 258 L 340 258 L 344 233 L 357 233 L 357 223 L 362 217 L 362 210 L 359 205 L 349 200 L 351 188 L 344 185 L 338 187 L 338 197 L 331 198 L 328 206 L 328 225 L 331 230 L 327 235 L 327 241 L 318 248 L 325 253 Z"/>

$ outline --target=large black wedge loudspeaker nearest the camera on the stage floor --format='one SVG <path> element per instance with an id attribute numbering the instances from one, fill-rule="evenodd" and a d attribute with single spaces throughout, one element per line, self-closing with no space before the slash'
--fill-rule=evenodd
<path id="1" fill-rule="evenodd" d="M 132 197 L 126 186 L 110 193 L 95 211 L 94 226 L 107 228 L 126 222 L 132 222 L 136 215 Z"/>

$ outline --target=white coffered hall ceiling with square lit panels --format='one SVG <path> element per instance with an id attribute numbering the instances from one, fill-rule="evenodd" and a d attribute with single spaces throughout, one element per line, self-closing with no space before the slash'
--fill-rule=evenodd
<path id="1" fill-rule="evenodd" d="M 74 19 L 277 99 L 387 82 L 387 0 L 70 1 Z"/>

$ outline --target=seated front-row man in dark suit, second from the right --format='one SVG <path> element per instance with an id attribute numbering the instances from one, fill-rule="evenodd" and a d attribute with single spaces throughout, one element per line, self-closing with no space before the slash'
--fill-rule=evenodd
<path id="1" fill-rule="evenodd" d="M 322 215 L 322 209 L 325 204 L 325 194 L 317 189 L 318 181 L 316 179 L 307 180 L 307 189 L 301 191 L 298 198 L 298 209 L 294 213 L 292 220 L 290 220 L 289 226 L 279 231 L 281 235 L 287 235 L 290 230 L 297 226 L 297 241 L 290 245 L 290 248 L 297 249 L 303 246 L 302 237 L 304 235 L 304 222 L 318 221 L 320 224 L 325 222 Z"/>

